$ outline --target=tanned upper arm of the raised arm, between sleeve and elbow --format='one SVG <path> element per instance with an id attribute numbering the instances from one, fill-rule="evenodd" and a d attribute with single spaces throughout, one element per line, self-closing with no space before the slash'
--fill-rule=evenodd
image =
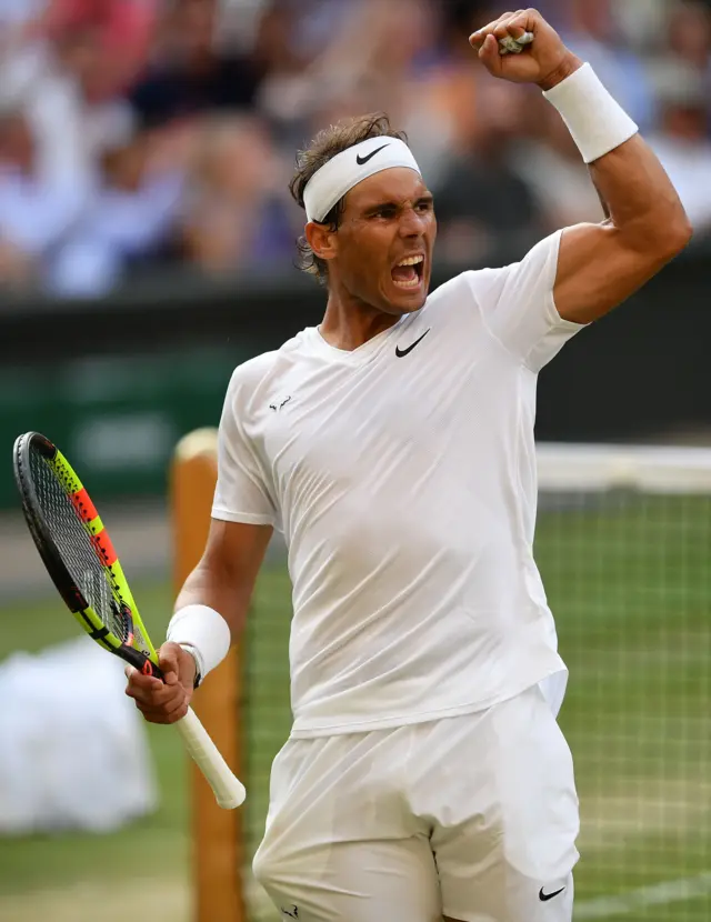
<path id="1" fill-rule="evenodd" d="M 659 272 L 665 258 L 650 260 L 628 244 L 609 221 L 563 231 L 553 299 L 563 320 L 591 323 L 621 304 Z"/>

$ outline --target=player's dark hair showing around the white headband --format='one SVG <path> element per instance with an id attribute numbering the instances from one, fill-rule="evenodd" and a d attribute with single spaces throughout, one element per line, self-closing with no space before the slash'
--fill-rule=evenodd
<path id="1" fill-rule="evenodd" d="M 311 177 L 328 163 L 337 153 L 341 153 L 353 144 L 367 141 L 369 138 L 399 138 L 405 141 L 403 131 L 395 131 L 390 126 L 390 119 L 382 112 L 370 116 L 360 116 L 357 119 L 338 122 L 324 128 L 316 136 L 310 147 L 297 153 L 297 169 L 293 179 L 289 183 L 289 190 L 301 208 L 303 208 L 303 190 Z M 343 199 L 338 201 L 319 223 L 329 224 L 332 230 L 338 230 L 338 222 L 343 211 Z M 299 255 L 297 265 L 304 272 L 316 275 L 321 284 L 328 282 L 328 264 L 326 260 L 314 255 L 304 235 L 297 241 Z"/>

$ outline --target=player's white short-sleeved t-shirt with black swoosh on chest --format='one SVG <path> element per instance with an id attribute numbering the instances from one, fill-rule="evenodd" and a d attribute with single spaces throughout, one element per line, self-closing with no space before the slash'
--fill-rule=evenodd
<path id="1" fill-rule="evenodd" d="M 478 711 L 564 671 L 531 550 L 537 374 L 581 329 L 553 303 L 560 235 L 352 352 L 310 328 L 236 370 L 212 514 L 284 533 L 293 736 Z"/>

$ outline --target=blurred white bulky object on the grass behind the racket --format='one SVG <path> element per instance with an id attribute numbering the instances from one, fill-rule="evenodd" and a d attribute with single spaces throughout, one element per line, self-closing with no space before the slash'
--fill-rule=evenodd
<path id="1" fill-rule="evenodd" d="M 0 834 L 109 832 L 156 809 L 122 663 L 89 638 L 0 663 Z"/>

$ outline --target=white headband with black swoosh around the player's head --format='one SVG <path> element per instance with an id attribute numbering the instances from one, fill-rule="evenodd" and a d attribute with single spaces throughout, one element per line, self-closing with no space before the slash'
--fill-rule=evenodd
<path id="1" fill-rule="evenodd" d="M 303 190 L 307 219 L 322 221 L 354 186 L 392 167 L 408 167 L 420 172 L 412 151 L 399 138 L 369 138 L 337 153 L 307 182 Z"/>

